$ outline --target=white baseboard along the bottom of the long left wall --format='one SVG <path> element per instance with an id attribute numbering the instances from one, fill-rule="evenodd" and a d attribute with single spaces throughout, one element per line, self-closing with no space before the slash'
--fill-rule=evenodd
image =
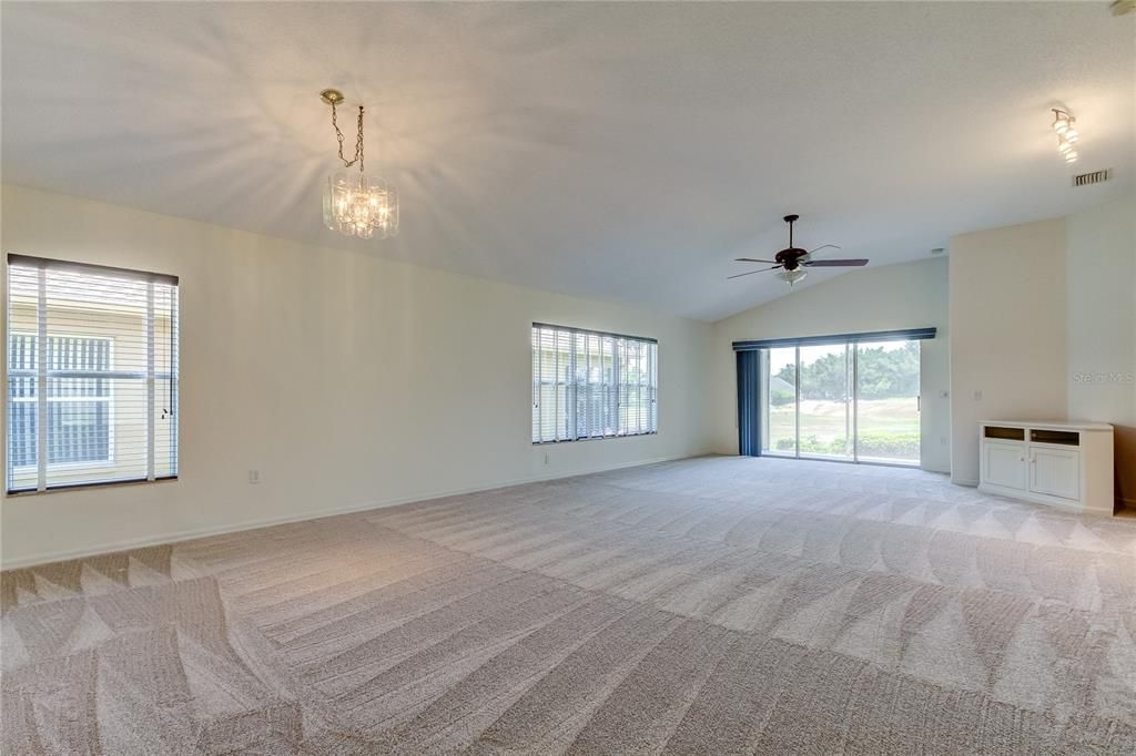
<path id="1" fill-rule="evenodd" d="M 573 472 L 551 473 L 546 476 L 531 476 L 527 478 L 518 478 L 515 480 L 504 480 L 500 482 L 494 482 L 486 486 L 473 486 L 468 488 L 457 488 L 452 490 L 427 492 L 423 494 L 415 494 L 412 496 L 403 496 L 400 498 L 383 499 L 378 502 L 367 502 L 365 504 L 348 504 L 344 506 L 332 506 L 321 510 L 308 510 L 306 512 L 300 512 L 295 514 L 285 514 L 278 518 L 262 518 L 259 520 L 247 520 L 244 522 L 217 526 L 212 528 L 176 530 L 173 532 L 144 536 L 141 538 L 126 538 L 123 540 L 114 540 L 103 544 L 97 544 L 93 546 L 84 546 L 82 548 L 61 549 L 57 552 L 41 552 L 39 554 L 32 554 L 30 556 L 23 556 L 15 560 L 5 560 L 3 563 L 0 564 L 0 569 L 14 570 L 19 568 L 35 566 L 37 564 L 49 564 L 51 562 L 62 562 L 66 560 L 84 558 L 87 556 L 95 556 L 98 554 L 124 552 L 132 548 L 144 548 L 147 546 L 161 546 L 165 544 L 176 544 L 178 541 L 193 540 L 195 538 L 204 538 L 207 536 L 220 536 L 228 532 L 240 532 L 242 530 L 256 530 L 257 528 L 268 528 L 272 526 L 287 524 L 289 522 L 303 522 L 304 520 L 318 520 L 319 518 L 328 518 L 328 516 L 334 516 L 336 514 L 366 512 L 367 510 L 379 510 L 387 506 L 399 506 L 400 504 L 428 502 L 434 498 L 444 498 L 446 496 L 461 496 L 462 494 L 476 494 L 479 492 L 493 490 L 495 488 L 506 488 L 508 486 L 521 486 L 525 484 L 540 482 L 542 480 L 557 480 L 560 478 L 575 478 L 577 476 L 593 474 L 596 472 L 623 470 L 625 468 L 638 468 L 646 464 L 658 464 L 659 462 L 674 462 L 675 460 L 686 460 L 686 459 L 693 459 L 693 457 L 660 456 L 651 460 L 638 460 L 635 462 L 623 462 L 620 464 L 601 465 L 596 468 L 576 470 Z"/>

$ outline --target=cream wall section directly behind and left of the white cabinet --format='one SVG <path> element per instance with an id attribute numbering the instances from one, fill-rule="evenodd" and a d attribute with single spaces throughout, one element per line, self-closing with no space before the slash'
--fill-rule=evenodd
<path id="1" fill-rule="evenodd" d="M 980 420 L 1063 420 L 1064 220 L 951 238 L 954 482 L 978 484 Z"/>

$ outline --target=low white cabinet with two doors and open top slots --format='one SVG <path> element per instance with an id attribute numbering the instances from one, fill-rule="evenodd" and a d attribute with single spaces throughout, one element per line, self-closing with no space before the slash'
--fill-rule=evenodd
<path id="1" fill-rule="evenodd" d="M 979 489 L 1112 514 L 1112 426 L 993 420 L 978 432 Z"/>

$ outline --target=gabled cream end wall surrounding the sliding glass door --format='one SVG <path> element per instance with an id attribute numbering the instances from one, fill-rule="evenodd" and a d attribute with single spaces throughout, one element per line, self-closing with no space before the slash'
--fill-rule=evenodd
<path id="1" fill-rule="evenodd" d="M 934 326 L 938 336 L 924 342 L 920 360 L 922 467 L 949 471 L 950 398 L 943 395 L 949 385 L 946 284 L 944 259 L 866 268 L 716 322 L 711 375 L 716 451 L 737 454 L 733 342 Z"/>

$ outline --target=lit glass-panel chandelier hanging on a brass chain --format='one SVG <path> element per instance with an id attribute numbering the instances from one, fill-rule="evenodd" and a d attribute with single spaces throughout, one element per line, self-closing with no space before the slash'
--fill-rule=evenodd
<path id="1" fill-rule="evenodd" d="M 343 132 L 335 119 L 343 103 L 339 90 L 324 90 L 319 98 L 332 106 L 332 126 L 340 143 L 343 170 L 327 177 L 324 185 L 324 224 L 344 236 L 386 238 L 399 233 L 399 193 L 378 176 L 368 176 L 362 163 L 362 106 L 359 106 L 359 135 L 353 160 L 343 157 Z M 359 163 L 359 173 L 348 170 Z"/>

